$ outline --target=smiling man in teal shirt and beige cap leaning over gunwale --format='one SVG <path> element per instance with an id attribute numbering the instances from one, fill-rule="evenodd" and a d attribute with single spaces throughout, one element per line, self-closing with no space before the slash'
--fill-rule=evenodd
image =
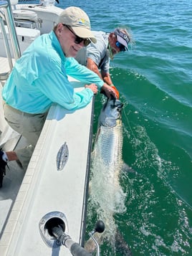
<path id="1" fill-rule="evenodd" d="M 34 40 L 17 60 L 2 91 L 4 115 L 30 146 L 0 151 L 0 187 L 8 161 L 19 160 L 27 168 L 52 103 L 67 110 L 84 108 L 97 88 L 102 88 L 108 97 L 115 96 L 110 86 L 74 59 L 90 42 L 95 43 L 96 39 L 89 17 L 82 9 L 69 7 L 62 11 L 53 31 Z M 75 93 L 67 75 L 84 82 L 85 89 Z"/>

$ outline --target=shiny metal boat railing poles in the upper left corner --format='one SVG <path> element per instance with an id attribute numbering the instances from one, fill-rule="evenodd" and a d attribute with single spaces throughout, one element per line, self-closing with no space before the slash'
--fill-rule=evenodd
<path id="1" fill-rule="evenodd" d="M 6 57 L 9 62 L 9 72 L 11 72 L 13 68 L 13 62 L 11 58 L 11 49 L 9 45 L 9 39 L 6 34 L 6 27 L 8 28 L 9 38 L 11 41 L 11 47 L 14 53 L 14 59 L 18 60 L 21 57 L 21 50 L 19 47 L 19 40 L 16 35 L 16 28 L 14 24 L 14 17 L 12 14 L 11 3 L 10 0 L 0 1 L 0 25 L 1 25 L 1 34 L 4 40 L 4 47 L 6 50 Z M 0 74 L 0 80 L 6 80 L 9 76 L 9 72 L 4 72 Z"/>

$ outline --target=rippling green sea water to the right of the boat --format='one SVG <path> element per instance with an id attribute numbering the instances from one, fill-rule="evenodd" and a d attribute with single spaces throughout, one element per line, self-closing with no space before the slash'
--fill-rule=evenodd
<path id="1" fill-rule="evenodd" d="M 126 211 L 115 222 L 133 255 L 192 255 L 192 1 L 61 1 L 80 6 L 92 29 L 126 25 L 135 45 L 111 62 L 123 108 L 120 176 Z M 101 108 L 95 99 L 95 125 Z M 97 214 L 88 208 L 87 230 Z M 95 219 L 92 219 L 95 217 Z M 109 242 L 101 255 L 114 252 Z"/>

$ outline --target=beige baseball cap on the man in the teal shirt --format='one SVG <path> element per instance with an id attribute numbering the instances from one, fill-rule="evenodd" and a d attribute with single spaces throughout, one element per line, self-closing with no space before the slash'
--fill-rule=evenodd
<path id="1" fill-rule="evenodd" d="M 70 6 L 59 15 L 58 23 L 68 25 L 78 37 L 90 38 L 93 43 L 97 42 L 91 32 L 90 19 L 79 7 Z"/>

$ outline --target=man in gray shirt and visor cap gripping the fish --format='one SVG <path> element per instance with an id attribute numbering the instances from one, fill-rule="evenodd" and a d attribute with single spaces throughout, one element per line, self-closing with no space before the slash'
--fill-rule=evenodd
<path id="1" fill-rule="evenodd" d="M 127 29 L 117 28 L 111 33 L 92 32 L 97 43 L 89 44 L 80 49 L 75 59 L 94 71 L 107 85 L 112 84 L 110 77 L 110 60 L 113 60 L 118 52 L 128 51 L 128 44 L 132 42 L 131 34 Z"/>

